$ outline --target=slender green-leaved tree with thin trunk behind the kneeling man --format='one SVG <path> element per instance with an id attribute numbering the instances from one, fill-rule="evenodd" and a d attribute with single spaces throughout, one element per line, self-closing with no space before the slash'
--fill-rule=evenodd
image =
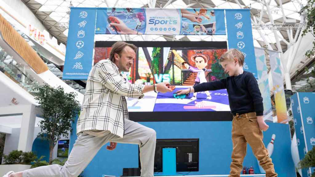
<path id="1" fill-rule="evenodd" d="M 61 136 L 68 136 L 72 131 L 71 123 L 79 113 L 80 105 L 76 100 L 77 94 L 65 93 L 62 87 L 52 88 L 43 85 L 38 88 L 35 99 L 43 111 L 43 120 L 39 122 L 41 132 L 39 137 L 49 140 L 49 164 L 52 162 L 53 149 Z"/>

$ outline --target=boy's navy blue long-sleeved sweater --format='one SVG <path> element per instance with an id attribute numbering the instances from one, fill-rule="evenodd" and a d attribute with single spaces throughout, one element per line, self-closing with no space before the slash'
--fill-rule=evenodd
<path id="1" fill-rule="evenodd" d="M 256 112 L 262 116 L 264 106 L 258 83 L 251 72 L 244 71 L 238 76 L 230 76 L 218 81 L 200 83 L 193 87 L 195 92 L 219 90 L 226 88 L 233 115 Z"/>

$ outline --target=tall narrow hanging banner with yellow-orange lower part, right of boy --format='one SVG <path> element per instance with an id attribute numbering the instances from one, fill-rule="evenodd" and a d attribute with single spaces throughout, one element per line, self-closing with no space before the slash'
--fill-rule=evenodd
<path id="1" fill-rule="evenodd" d="M 270 69 L 272 75 L 272 91 L 275 97 L 276 111 L 277 111 L 277 122 L 287 123 L 287 105 L 285 101 L 284 85 L 282 80 L 282 72 L 280 68 L 279 53 L 269 51 Z"/>

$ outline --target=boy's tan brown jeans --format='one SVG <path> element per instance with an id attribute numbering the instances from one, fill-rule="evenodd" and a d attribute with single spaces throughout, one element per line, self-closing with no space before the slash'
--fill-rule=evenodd
<path id="1" fill-rule="evenodd" d="M 246 155 L 247 142 L 259 161 L 259 164 L 266 171 L 266 177 L 278 176 L 274 170 L 271 158 L 262 141 L 263 134 L 259 128 L 255 112 L 237 114 L 233 116 L 232 122 L 232 163 L 230 177 L 239 177 L 243 168 L 243 160 Z"/>

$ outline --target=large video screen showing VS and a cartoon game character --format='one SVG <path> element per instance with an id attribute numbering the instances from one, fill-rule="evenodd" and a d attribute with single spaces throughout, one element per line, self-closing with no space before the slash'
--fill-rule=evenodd
<path id="1" fill-rule="evenodd" d="M 96 42 L 94 63 L 109 58 L 114 42 Z M 199 83 L 225 78 L 218 60 L 226 52 L 226 42 L 135 42 L 138 48 L 133 67 L 123 76 L 130 83 L 152 85 L 169 82 L 175 90 L 168 93 L 145 93 L 142 99 L 127 98 L 132 112 L 230 112 L 226 89 L 191 93 L 178 98 L 175 92 Z M 137 114 L 135 114 L 137 115 Z M 143 114 L 142 114 L 143 115 Z M 200 115 L 198 113 L 198 115 Z M 150 116 L 152 117 L 152 116 Z"/>

